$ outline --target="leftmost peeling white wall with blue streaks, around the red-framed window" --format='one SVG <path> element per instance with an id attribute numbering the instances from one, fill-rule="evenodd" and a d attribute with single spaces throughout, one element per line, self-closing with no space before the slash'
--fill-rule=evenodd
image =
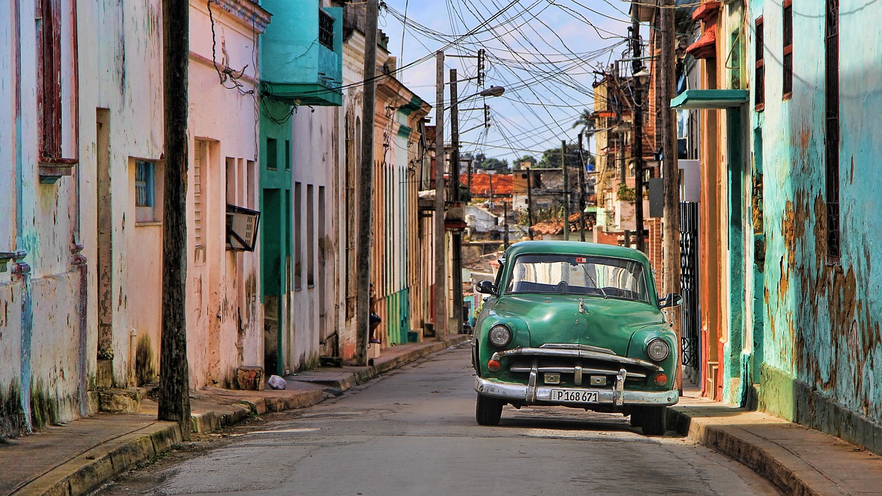
<path id="1" fill-rule="evenodd" d="M 78 62 L 74 4 L 61 2 L 58 65 L 60 152 L 78 158 Z M 34 14 L 39 20 L 35 21 Z M 41 59 L 50 32 L 39 3 L 0 6 L 0 437 L 76 418 L 82 412 L 76 175 L 41 182 Z M 55 122 L 55 121 L 53 121 Z M 76 168 L 76 167 L 75 167 Z"/>

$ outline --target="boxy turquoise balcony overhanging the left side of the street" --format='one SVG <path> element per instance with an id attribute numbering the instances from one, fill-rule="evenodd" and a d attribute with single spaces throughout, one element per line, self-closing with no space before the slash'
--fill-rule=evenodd
<path id="1" fill-rule="evenodd" d="M 260 41 L 260 92 L 289 105 L 339 107 L 343 79 L 343 9 L 318 0 L 265 0 L 273 19 Z"/>

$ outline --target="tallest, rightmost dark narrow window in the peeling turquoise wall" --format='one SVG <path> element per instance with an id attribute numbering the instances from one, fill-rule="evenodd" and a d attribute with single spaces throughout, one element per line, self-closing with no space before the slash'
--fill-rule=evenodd
<path id="1" fill-rule="evenodd" d="M 826 135 L 826 241 L 827 256 L 840 252 L 839 214 L 839 0 L 826 0 L 825 22 L 825 107 Z"/>

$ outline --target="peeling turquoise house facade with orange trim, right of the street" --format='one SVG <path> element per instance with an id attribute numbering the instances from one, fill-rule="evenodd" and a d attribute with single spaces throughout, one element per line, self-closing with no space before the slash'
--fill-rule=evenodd
<path id="1" fill-rule="evenodd" d="M 853 7 L 701 4 L 671 105 L 700 115 L 705 395 L 880 452 L 882 7 Z"/>

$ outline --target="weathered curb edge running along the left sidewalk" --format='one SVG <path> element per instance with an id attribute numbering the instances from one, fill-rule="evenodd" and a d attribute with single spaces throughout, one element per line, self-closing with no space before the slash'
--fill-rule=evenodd
<path id="1" fill-rule="evenodd" d="M 407 362 L 439 352 L 455 344 L 467 341 L 467 336 L 455 336 L 437 341 L 421 349 L 411 350 L 397 357 L 369 366 L 351 374 L 344 381 L 350 389 L 356 384 L 370 381 L 379 374 L 402 366 Z M 236 403 L 219 405 L 212 411 L 191 416 L 194 433 L 211 433 L 222 427 L 241 422 L 252 413 L 262 415 L 271 411 L 286 411 L 321 403 L 325 394 L 321 390 L 303 391 L 293 396 L 246 397 Z M 55 469 L 49 470 L 20 487 L 12 496 L 79 496 L 93 491 L 112 477 L 131 469 L 137 463 L 160 455 L 183 441 L 181 429 L 175 422 L 154 421 L 132 433 L 102 443 L 75 456 Z"/>

